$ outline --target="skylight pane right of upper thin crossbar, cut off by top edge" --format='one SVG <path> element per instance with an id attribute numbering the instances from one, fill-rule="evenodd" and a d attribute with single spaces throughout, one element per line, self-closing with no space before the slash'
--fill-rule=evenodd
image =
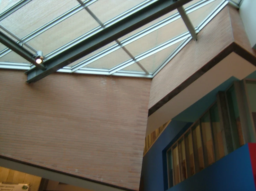
<path id="1" fill-rule="evenodd" d="M 145 0 L 98 0 L 89 9 L 105 23 Z"/>

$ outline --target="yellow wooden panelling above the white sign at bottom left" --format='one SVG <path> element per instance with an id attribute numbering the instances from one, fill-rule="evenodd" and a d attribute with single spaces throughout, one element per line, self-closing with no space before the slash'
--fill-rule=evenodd
<path id="1" fill-rule="evenodd" d="M 0 167 L 0 182 L 9 182 L 14 184 L 29 184 L 30 191 L 38 191 L 41 183 L 41 177 Z"/>

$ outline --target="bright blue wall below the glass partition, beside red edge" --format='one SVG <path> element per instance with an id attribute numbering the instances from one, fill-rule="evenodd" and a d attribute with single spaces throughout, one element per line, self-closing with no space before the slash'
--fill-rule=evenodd
<path id="1" fill-rule="evenodd" d="M 248 144 L 168 191 L 255 191 Z"/>

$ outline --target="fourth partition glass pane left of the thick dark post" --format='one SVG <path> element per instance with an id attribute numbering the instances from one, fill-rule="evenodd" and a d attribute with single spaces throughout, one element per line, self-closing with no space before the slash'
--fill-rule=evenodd
<path id="1" fill-rule="evenodd" d="M 192 134 L 189 131 L 185 134 L 185 146 L 186 146 L 186 159 L 187 159 L 187 175 L 191 177 L 195 174 L 194 167 L 194 151 L 193 151 L 193 141 Z"/>

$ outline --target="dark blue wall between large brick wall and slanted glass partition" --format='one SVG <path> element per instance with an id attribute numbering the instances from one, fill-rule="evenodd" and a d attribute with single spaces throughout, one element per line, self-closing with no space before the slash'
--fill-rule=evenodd
<path id="1" fill-rule="evenodd" d="M 165 167 L 163 166 L 163 150 L 167 145 L 173 144 L 170 140 L 177 140 L 180 135 L 190 127 L 192 123 L 172 120 L 168 127 L 162 132 L 157 141 L 143 157 L 142 175 L 144 191 L 164 191 Z M 182 131 L 181 131 L 182 130 Z M 164 176 L 165 174 L 165 176 Z"/>

